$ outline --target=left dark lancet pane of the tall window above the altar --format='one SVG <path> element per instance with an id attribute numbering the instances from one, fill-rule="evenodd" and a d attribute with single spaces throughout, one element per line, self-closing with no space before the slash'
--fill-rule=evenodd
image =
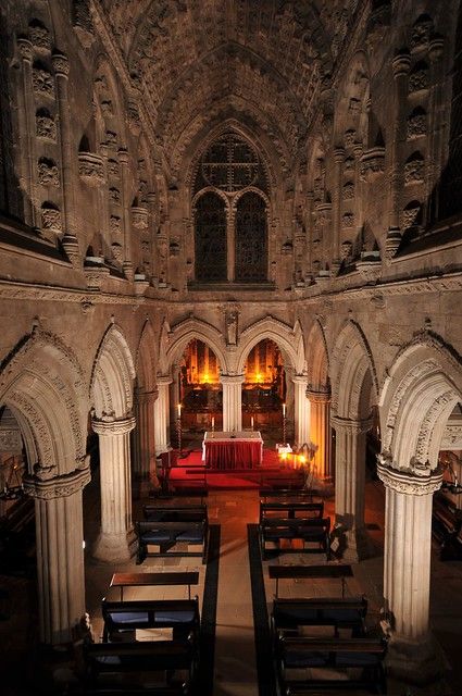
<path id="1" fill-rule="evenodd" d="M 226 212 L 223 199 L 208 191 L 196 203 L 196 279 L 221 283 L 227 279 Z"/>

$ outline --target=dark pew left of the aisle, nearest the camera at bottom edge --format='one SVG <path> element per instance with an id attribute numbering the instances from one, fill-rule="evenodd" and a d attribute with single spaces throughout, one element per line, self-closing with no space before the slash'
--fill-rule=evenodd
<path id="1" fill-rule="evenodd" d="M 155 696 L 189 693 L 197 672 L 197 651 L 189 641 L 93 643 L 85 646 L 85 693 Z"/>

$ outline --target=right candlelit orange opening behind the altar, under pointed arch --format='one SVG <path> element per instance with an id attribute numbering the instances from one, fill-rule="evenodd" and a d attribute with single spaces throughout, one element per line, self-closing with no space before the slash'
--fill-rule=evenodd
<path id="1" fill-rule="evenodd" d="M 244 375 L 242 427 L 259 430 L 266 437 L 280 439 L 283 405 L 285 409 L 288 408 L 286 403 L 288 389 L 284 357 L 274 340 L 262 338 L 250 349 Z M 290 413 L 292 413 L 291 406 Z M 286 411 L 286 425 L 288 421 Z"/>

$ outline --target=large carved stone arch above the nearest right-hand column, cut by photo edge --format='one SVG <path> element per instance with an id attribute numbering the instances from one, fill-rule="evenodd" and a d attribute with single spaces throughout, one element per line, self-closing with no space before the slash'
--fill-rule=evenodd
<path id="1" fill-rule="evenodd" d="M 447 420 L 462 399 L 462 360 L 424 333 L 395 360 L 380 394 L 383 453 L 396 469 L 433 470 Z"/>

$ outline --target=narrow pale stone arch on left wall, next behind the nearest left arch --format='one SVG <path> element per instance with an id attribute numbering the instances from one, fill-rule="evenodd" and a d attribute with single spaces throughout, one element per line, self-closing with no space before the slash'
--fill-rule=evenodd
<path id="1" fill-rule="evenodd" d="M 133 408 L 135 365 L 122 330 L 112 324 L 105 332 L 93 363 L 90 401 L 98 419 L 125 418 Z"/>

